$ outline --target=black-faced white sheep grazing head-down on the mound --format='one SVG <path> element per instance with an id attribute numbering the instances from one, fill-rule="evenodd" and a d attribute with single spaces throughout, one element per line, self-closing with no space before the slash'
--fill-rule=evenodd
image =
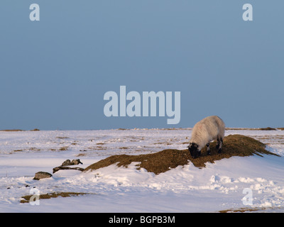
<path id="1" fill-rule="evenodd" d="M 225 134 L 225 123 L 219 116 L 207 116 L 197 122 L 192 128 L 190 145 L 187 146 L 190 155 L 194 158 L 201 155 L 201 150 L 207 146 L 207 155 L 210 155 L 209 143 L 217 140 L 218 153 L 222 151 L 222 143 Z"/>

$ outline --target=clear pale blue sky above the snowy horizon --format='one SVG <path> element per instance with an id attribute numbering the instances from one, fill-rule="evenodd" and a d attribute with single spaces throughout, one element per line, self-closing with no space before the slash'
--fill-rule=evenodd
<path id="1" fill-rule="evenodd" d="M 31 21 L 31 4 L 40 21 Z M 244 4 L 253 21 L 244 21 Z M 284 1 L 1 0 L 0 129 L 284 127 Z M 104 94 L 181 92 L 180 123 Z"/>

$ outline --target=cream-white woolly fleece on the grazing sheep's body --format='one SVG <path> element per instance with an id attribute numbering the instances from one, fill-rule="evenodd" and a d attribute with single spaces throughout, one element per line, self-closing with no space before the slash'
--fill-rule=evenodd
<path id="1" fill-rule="evenodd" d="M 196 143 L 198 150 L 202 150 L 212 140 L 223 139 L 225 134 L 225 123 L 219 116 L 207 116 L 197 122 L 192 128 L 190 143 Z"/>

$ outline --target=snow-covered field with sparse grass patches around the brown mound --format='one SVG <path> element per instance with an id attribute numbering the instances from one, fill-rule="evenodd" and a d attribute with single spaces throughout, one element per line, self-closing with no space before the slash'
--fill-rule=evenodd
<path id="1" fill-rule="evenodd" d="M 228 130 L 256 138 L 281 157 L 231 157 L 199 169 L 192 164 L 154 175 L 111 165 L 93 172 L 60 170 L 48 179 L 35 172 L 53 172 L 67 159 L 87 167 L 110 155 L 140 155 L 167 148 L 185 149 L 190 129 L 0 132 L 1 212 L 218 212 L 226 209 L 284 211 L 284 131 Z M 72 166 L 76 167 L 76 166 Z M 21 204 L 36 188 L 40 194 L 83 192 L 80 196 L 40 199 Z M 244 205 L 243 190 L 253 193 Z"/>

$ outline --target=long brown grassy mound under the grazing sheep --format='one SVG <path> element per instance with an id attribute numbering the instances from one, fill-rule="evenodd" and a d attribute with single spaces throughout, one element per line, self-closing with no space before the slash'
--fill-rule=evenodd
<path id="1" fill-rule="evenodd" d="M 168 149 L 146 155 L 113 155 L 89 165 L 84 171 L 97 170 L 114 163 L 117 163 L 117 166 L 119 167 L 127 167 L 131 162 L 141 162 L 137 165 L 138 169 L 145 168 L 148 172 L 154 172 L 158 175 L 161 172 L 178 167 L 178 165 L 187 165 L 189 161 L 196 167 L 205 167 L 206 162 L 214 163 L 215 160 L 221 160 L 222 158 L 229 158 L 232 156 L 250 156 L 254 154 L 260 156 L 262 156 L 261 154 L 275 155 L 265 149 L 265 144 L 244 135 L 226 136 L 224 138 L 221 154 L 217 152 L 215 147 L 216 142 L 210 143 L 211 155 L 207 155 L 206 148 L 203 148 L 202 155 L 195 159 L 190 156 L 187 149 Z"/>

